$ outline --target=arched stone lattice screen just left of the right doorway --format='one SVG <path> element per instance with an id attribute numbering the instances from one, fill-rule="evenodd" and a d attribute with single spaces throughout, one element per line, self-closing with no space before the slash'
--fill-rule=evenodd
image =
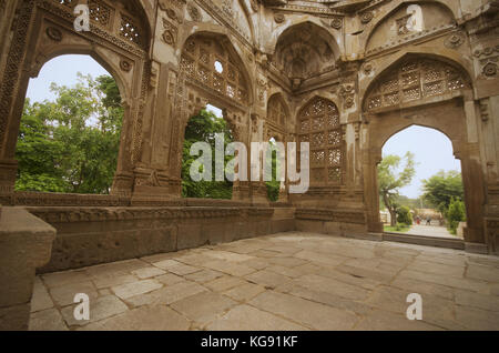
<path id="1" fill-rule="evenodd" d="M 338 107 L 314 97 L 298 112 L 298 144 L 310 148 L 310 185 L 339 185 L 345 178 L 345 131 Z"/>

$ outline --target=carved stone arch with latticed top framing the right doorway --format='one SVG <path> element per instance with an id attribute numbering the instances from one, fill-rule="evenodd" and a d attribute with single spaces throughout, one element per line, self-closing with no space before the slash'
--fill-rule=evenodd
<path id="1" fill-rule="evenodd" d="M 363 111 L 368 124 L 363 159 L 369 231 L 383 232 L 377 192 L 383 145 L 397 132 L 420 125 L 440 131 L 452 142 L 462 168 L 468 215 L 465 240 L 482 243 L 486 176 L 480 167 L 481 152 L 470 130 L 477 121 L 467 71 L 455 61 L 436 56 L 403 56 L 384 69 L 366 92 Z"/>

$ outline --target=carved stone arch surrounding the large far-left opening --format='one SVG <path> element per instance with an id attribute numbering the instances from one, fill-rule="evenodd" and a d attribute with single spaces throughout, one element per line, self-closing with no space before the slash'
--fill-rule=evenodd
<path id="1" fill-rule="evenodd" d="M 125 98 L 125 122 L 120 147 L 116 178 L 126 174 L 113 185 L 113 192 L 130 194 L 133 164 L 142 148 L 142 119 L 147 93 L 147 49 L 150 31 L 142 6 L 134 1 L 90 0 L 90 31 L 74 31 L 73 9 L 78 1 L 23 1 L 19 21 L 13 28 L 13 41 L 7 57 L 8 69 L 0 95 L 0 160 L 9 161 L 9 173 L 2 176 L 2 190 L 12 190 L 16 175 L 13 161 L 17 132 L 30 77 L 58 56 L 89 54 L 116 80 Z M 77 69 L 77 68 L 75 68 Z M 126 89 L 125 89 L 126 88 Z M 8 184 L 7 184 L 8 183 Z M 116 188 L 118 189 L 116 189 Z"/>

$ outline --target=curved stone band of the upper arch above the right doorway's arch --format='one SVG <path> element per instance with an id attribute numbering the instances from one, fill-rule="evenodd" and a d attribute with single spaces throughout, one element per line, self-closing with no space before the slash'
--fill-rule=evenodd
<path id="1" fill-rule="evenodd" d="M 387 19 L 389 19 L 394 13 L 396 13 L 399 9 L 406 6 L 410 4 L 436 4 L 445 9 L 449 12 L 449 14 L 454 18 L 456 21 L 460 14 L 459 14 L 459 8 L 456 7 L 456 3 L 452 3 L 454 0 L 436 0 L 436 1 L 429 1 L 429 0 L 401 0 L 396 2 L 389 2 L 386 6 L 384 6 L 380 11 L 384 12 L 384 16 L 374 18 L 373 20 L 369 20 L 367 24 L 365 24 L 364 32 L 359 36 L 359 43 L 360 48 L 365 48 L 367 50 L 369 40 L 371 39 L 373 34 L 376 32 L 376 30 L 379 28 L 380 24 L 383 24 Z M 370 16 L 371 17 L 371 16 Z"/>

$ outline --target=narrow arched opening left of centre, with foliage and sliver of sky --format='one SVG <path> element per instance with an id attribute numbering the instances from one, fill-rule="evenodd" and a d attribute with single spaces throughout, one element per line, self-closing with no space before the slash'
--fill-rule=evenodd
<path id="1" fill-rule="evenodd" d="M 231 158 L 223 153 L 226 151 L 227 144 L 232 142 L 234 142 L 233 132 L 223 117 L 222 109 L 207 104 L 189 120 L 185 127 L 182 154 L 183 198 L 232 199 L 233 182 L 226 174 L 226 167 Z M 203 145 L 198 143 L 204 143 L 205 150 L 201 151 Z M 221 148 L 223 148 L 223 164 L 217 165 L 220 155 L 217 155 L 216 149 Z M 204 172 L 207 173 L 196 176 Z M 201 180 L 198 180 L 200 178 Z"/>

